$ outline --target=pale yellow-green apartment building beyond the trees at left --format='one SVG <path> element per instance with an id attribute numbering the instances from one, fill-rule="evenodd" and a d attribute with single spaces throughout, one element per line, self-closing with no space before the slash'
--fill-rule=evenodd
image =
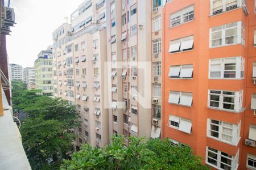
<path id="1" fill-rule="evenodd" d="M 42 50 L 35 60 L 36 89 L 42 90 L 43 95 L 53 96 L 53 65 L 52 46 Z"/>

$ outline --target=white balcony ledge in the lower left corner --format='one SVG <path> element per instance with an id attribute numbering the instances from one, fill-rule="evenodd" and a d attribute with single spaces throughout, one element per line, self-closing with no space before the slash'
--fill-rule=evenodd
<path id="1" fill-rule="evenodd" d="M 13 109 L 7 102 L 3 88 L 0 93 L 0 102 L 0 167 L 1 169 L 31 169 L 18 127 L 13 121 Z"/>

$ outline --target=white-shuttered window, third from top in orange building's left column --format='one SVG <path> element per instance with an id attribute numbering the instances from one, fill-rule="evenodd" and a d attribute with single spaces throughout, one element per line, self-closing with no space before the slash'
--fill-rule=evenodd
<path id="1" fill-rule="evenodd" d="M 193 65 L 170 66 L 169 78 L 193 78 Z"/>

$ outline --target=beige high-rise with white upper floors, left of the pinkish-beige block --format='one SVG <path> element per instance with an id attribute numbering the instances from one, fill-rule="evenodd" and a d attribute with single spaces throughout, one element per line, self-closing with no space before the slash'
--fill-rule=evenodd
<path id="1" fill-rule="evenodd" d="M 105 1 L 85 1 L 53 32 L 55 97 L 70 101 L 80 112 L 75 145 L 109 143 L 105 108 Z"/>

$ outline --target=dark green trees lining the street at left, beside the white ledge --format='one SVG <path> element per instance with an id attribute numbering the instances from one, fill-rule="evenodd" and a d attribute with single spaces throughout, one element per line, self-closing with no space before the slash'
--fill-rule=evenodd
<path id="1" fill-rule="evenodd" d="M 16 108 L 28 115 L 20 129 L 23 147 L 32 169 L 59 169 L 68 158 L 66 153 L 73 150 L 78 114 L 68 101 L 40 94 L 23 90 L 13 96 Z"/>

